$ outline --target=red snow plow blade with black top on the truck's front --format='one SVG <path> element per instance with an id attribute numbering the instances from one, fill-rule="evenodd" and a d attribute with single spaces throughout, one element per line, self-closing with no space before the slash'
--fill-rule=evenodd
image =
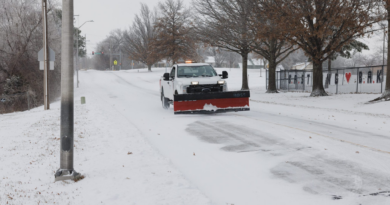
<path id="1" fill-rule="evenodd" d="M 174 95 L 175 114 L 249 111 L 249 91 Z"/>

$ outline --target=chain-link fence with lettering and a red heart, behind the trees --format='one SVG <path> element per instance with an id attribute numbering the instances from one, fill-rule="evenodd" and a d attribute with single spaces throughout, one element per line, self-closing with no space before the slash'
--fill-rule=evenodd
<path id="1" fill-rule="evenodd" d="M 337 68 L 323 71 L 323 83 L 327 92 L 382 93 L 386 84 L 386 66 Z M 266 72 L 268 88 L 269 72 Z M 276 72 L 276 87 L 282 91 L 311 92 L 313 70 L 282 70 Z"/>

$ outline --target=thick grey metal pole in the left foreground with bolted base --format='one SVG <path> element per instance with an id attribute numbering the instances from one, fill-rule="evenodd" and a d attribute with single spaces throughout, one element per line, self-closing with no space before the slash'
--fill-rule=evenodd
<path id="1" fill-rule="evenodd" d="M 73 0 L 62 0 L 61 43 L 61 140 L 60 168 L 55 181 L 77 179 L 80 174 L 73 169 L 74 137 L 74 68 L 73 68 Z"/>

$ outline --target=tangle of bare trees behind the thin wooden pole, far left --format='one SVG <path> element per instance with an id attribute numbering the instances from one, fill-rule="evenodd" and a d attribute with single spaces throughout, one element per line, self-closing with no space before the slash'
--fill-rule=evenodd
<path id="1" fill-rule="evenodd" d="M 54 20 L 55 4 L 49 4 L 48 37 L 56 52 L 55 70 L 50 71 L 50 96 L 59 95 L 60 31 Z M 42 48 L 42 8 L 39 1 L 0 0 L 0 112 L 21 111 L 43 103 L 43 72 L 37 53 Z M 28 103 L 30 101 L 30 103 Z"/>

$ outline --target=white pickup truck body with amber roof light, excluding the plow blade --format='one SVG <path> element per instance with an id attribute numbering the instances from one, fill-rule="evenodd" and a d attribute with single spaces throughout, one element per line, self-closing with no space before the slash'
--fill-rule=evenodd
<path id="1" fill-rule="evenodd" d="M 226 71 L 218 75 L 209 64 L 176 64 L 160 79 L 162 106 L 168 109 L 178 94 L 226 92 L 227 78 Z"/>

